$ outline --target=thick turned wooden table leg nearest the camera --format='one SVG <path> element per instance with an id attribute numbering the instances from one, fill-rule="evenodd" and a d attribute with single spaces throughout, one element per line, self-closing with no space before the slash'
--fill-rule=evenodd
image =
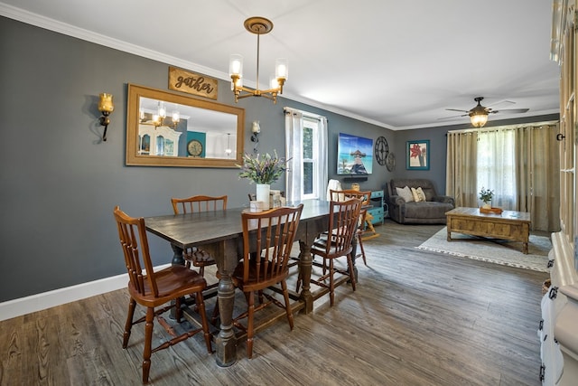
<path id="1" fill-rule="evenodd" d="M 230 274 L 221 273 L 218 298 L 220 331 L 215 339 L 217 346 L 215 360 L 220 367 L 228 367 L 237 362 L 237 337 L 233 331 L 235 286 Z"/>

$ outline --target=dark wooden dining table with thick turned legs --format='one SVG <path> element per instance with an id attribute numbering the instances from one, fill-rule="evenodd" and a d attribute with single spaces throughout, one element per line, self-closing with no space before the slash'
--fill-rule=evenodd
<path id="1" fill-rule="evenodd" d="M 298 300 L 303 302 L 304 314 L 313 309 L 310 286 L 312 275 L 311 247 L 313 240 L 327 231 L 329 226 L 330 202 L 303 200 L 287 205 L 303 203 L 301 220 L 295 234 L 299 242 L 299 275 L 303 279 Z M 188 212 L 163 216 L 145 217 L 146 230 L 167 240 L 173 250 L 172 264 L 184 264 L 183 249 L 199 247 L 216 260 L 219 271 L 219 334 L 215 337 L 215 360 L 221 367 L 237 361 L 237 338 L 233 329 L 235 286 L 231 275 L 238 265 L 243 250 L 243 228 L 241 213 L 248 208 L 232 208 L 224 211 Z M 355 256 L 355 254 L 354 254 Z M 356 272 L 357 273 L 357 272 Z M 357 277 L 357 275 L 356 275 Z"/>

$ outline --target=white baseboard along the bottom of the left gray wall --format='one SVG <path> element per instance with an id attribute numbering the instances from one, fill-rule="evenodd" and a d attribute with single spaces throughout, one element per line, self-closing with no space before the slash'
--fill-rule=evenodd
<path id="1" fill-rule="evenodd" d="M 170 266 L 170 264 L 166 264 L 155 267 L 154 270 Z M 8 300 L 0 303 L 0 321 L 126 288 L 126 283 L 128 283 L 128 274 L 123 274 L 89 281 L 76 286 L 54 289 L 42 294 L 31 295 L 30 297 Z"/>

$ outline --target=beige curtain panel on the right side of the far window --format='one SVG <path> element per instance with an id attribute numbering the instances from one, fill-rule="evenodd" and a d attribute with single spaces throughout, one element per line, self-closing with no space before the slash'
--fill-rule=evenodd
<path id="1" fill-rule="evenodd" d="M 516 211 L 530 212 L 535 231 L 560 229 L 558 124 L 519 127 L 516 137 Z"/>

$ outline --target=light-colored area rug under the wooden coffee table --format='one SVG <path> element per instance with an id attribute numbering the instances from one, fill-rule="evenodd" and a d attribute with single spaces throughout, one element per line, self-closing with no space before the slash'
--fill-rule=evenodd
<path id="1" fill-rule="evenodd" d="M 548 252 L 552 249 L 552 243 L 547 237 L 530 235 L 528 254 L 525 255 L 522 253 L 521 242 L 484 239 L 455 232 L 452 232 L 452 241 L 448 242 L 447 230 L 443 228 L 416 248 L 509 267 L 549 272 Z"/>

